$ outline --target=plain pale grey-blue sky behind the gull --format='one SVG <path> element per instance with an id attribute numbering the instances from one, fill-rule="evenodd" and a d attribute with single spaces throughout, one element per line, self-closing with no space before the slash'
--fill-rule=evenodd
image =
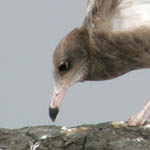
<path id="1" fill-rule="evenodd" d="M 0 128 L 76 126 L 127 120 L 150 99 L 150 70 L 71 87 L 56 121 L 49 119 L 52 55 L 82 25 L 87 1 L 0 1 Z"/>

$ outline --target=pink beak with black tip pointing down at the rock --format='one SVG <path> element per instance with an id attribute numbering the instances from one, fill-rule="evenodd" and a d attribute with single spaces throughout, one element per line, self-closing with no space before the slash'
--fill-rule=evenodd
<path id="1" fill-rule="evenodd" d="M 51 99 L 50 107 L 49 107 L 49 116 L 52 121 L 55 121 L 57 114 L 59 112 L 60 105 L 67 91 L 66 86 L 62 86 L 60 88 L 56 87 L 54 89 L 54 93 Z"/>

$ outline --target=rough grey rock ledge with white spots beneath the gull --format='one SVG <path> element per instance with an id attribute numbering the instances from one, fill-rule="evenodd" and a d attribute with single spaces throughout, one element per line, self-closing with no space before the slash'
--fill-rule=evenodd
<path id="1" fill-rule="evenodd" d="M 150 150 L 150 129 L 110 122 L 0 129 L 0 150 Z"/>

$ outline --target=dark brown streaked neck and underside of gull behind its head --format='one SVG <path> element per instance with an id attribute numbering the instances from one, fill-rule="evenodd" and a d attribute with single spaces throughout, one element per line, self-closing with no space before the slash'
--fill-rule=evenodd
<path id="1" fill-rule="evenodd" d="M 92 33 L 87 80 L 107 80 L 131 70 L 150 68 L 150 31 Z"/>

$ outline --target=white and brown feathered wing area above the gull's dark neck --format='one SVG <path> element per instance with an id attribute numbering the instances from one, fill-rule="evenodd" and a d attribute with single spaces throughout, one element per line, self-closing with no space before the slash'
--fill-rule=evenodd
<path id="1" fill-rule="evenodd" d="M 107 25 L 112 31 L 149 26 L 150 0 L 88 0 L 84 23 L 89 28 Z"/>

